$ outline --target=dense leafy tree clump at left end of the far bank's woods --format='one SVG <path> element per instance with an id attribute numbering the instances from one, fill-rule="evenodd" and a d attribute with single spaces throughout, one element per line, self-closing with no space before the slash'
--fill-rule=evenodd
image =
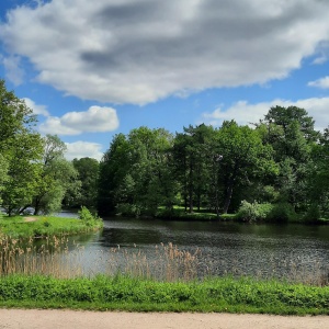
<path id="1" fill-rule="evenodd" d="M 118 208 L 155 214 L 159 204 L 172 207 L 175 186 L 170 175 L 172 136 L 164 129 L 139 127 L 114 137 L 100 163 L 99 212 Z"/>

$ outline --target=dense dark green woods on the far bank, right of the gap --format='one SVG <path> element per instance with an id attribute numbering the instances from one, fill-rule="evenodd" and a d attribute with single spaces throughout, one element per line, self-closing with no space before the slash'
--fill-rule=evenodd
<path id="1" fill-rule="evenodd" d="M 161 206 L 170 215 L 182 205 L 226 214 L 243 202 L 318 219 L 329 207 L 329 131 L 314 125 L 304 109 L 273 106 L 252 127 L 117 134 L 100 163 L 99 212 L 157 215 Z"/>

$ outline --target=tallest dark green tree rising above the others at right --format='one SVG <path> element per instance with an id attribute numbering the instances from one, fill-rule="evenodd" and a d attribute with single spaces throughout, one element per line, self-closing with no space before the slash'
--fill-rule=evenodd
<path id="1" fill-rule="evenodd" d="M 307 168 L 313 146 L 319 139 L 314 121 L 304 109 L 271 107 L 258 125 L 263 141 L 274 149 L 280 174 L 272 184 L 280 192 L 280 201 L 288 202 L 295 211 L 304 209 L 307 198 Z"/>

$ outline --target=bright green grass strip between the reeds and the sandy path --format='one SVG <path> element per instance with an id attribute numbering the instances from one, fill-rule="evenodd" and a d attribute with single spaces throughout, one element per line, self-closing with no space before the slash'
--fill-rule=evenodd
<path id="1" fill-rule="evenodd" d="M 329 286 L 231 277 L 169 283 L 121 275 L 70 280 L 9 275 L 0 280 L 0 306 L 329 315 Z"/>

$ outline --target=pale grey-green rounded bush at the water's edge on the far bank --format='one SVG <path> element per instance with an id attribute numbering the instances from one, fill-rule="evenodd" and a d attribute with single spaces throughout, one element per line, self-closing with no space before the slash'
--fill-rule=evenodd
<path id="1" fill-rule="evenodd" d="M 265 220 L 272 208 L 271 203 L 249 203 L 243 200 L 238 209 L 237 218 L 243 222 Z"/>

